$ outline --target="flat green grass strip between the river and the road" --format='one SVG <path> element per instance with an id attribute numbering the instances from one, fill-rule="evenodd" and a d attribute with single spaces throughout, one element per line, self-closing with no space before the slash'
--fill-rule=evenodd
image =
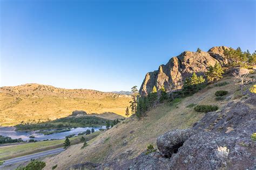
<path id="1" fill-rule="evenodd" d="M 83 136 L 85 140 L 91 140 L 97 137 L 101 131 L 97 131 L 88 135 Z M 70 138 L 71 145 L 80 143 L 80 138 L 82 136 L 76 136 Z M 0 160 L 6 160 L 16 157 L 21 157 L 23 155 L 48 151 L 55 148 L 63 147 L 65 139 L 61 140 L 48 140 L 48 141 L 37 141 L 36 143 L 26 143 L 19 145 L 10 145 L 0 147 Z"/>

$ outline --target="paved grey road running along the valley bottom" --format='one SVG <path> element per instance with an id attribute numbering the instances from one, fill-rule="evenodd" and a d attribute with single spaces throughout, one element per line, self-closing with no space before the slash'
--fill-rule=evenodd
<path id="1" fill-rule="evenodd" d="M 62 152 L 64 150 L 65 150 L 64 148 L 56 148 L 54 150 L 38 152 L 38 153 L 34 153 L 34 154 L 25 155 L 25 156 L 22 156 L 22 157 L 8 159 L 8 160 L 4 161 L 4 164 L 1 165 L 0 168 L 4 167 L 6 165 L 16 164 L 16 163 L 19 163 L 19 162 L 28 161 L 30 159 L 37 159 L 37 158 L 45 157 L 47 155 L 60 153 L 60 152 Z"/>

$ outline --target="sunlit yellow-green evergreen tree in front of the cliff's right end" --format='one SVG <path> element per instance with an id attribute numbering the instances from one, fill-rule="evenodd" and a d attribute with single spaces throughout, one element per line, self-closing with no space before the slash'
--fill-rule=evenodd
<path id="1" fill-rule="evenodd" d="M 213 82 L 213 81 L 218 81 L 220 80 L 223 76 L 222 74 L 224 73 L 222 67 L 218 62 L 215 63 L 214 66 L 209 66 L 207 68 L 206 76 L 208 82 Z"/>

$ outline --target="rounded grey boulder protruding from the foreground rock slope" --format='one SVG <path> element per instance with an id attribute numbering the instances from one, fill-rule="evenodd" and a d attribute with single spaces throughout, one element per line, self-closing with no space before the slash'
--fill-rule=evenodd
<path id="1" fill-rule="evenodd" d="M 191 137 L 194 131 L 190 129 L 171 130 L 157 138 L 157 147 L 159 152 L 167 158 L 173 153 L 177 153 L 186 139 Z"/>

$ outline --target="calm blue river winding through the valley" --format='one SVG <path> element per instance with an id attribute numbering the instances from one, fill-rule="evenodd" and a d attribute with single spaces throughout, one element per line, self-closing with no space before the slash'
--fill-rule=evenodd
<path id="1" fill-rule="evenodd" d="M 39 133 L 39 131 L 28 131 L 28 132 L 22 132 L 22 131 L 15 131 L 14 127 L 0 127 L 0 135 L 5 137 L 11 137 L 12 139 L 18 139 L 22 138 L 22 140 L 29 140 L 30 136 L 34 136 L 35 138 L 32 138 L 34 140 L 51 140 L 51 139 L 65 139 L 66 136 L 69 136 L 71 134 L 77 135 L 80 132 L 84 132 L 86 130 L 94 129 L 95 131 L 99 131 L 99 129 L 106 129 L 106 126 L 102 126 L 99 128 L 72 128 L 70 131 L 66 132 L 59 132 L 59 133 L 53 133 L 44 135 L 42 133 Z"/>

